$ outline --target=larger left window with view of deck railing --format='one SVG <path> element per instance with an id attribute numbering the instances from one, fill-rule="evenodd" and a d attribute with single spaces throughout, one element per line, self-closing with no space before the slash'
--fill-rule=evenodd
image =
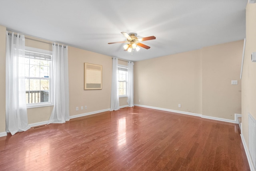
<path id="1" fill-rule="evenodd" d="M 25 85 L 27 107 L 49 105 L 52 52 L 26 47 Z M 39 105 L 39 106 L 38 106 Z"/>

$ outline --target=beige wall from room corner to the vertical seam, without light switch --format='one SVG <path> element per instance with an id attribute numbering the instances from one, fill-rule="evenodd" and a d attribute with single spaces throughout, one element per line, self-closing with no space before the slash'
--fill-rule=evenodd
<path id="1" fill-rule="evenodd" d="M 135 62 L 134 103 L 202 113 L 200 59 L 200 50 L 195 50 Z"/>

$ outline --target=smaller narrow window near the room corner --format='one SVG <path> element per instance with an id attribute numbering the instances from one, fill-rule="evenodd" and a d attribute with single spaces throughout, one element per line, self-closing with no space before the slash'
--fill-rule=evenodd
<path id="1" fill-rule="evenodd" d="M 127 95 L 127 66 L 118 66 L 118 95 Z"/>

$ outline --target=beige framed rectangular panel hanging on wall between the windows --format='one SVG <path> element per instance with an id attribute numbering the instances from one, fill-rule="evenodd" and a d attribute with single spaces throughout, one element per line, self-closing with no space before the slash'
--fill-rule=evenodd
<path id="1" fill-rule="evenodd" d="M 84 63 L 84 89 L 102 89 L 102 66 Z"/>

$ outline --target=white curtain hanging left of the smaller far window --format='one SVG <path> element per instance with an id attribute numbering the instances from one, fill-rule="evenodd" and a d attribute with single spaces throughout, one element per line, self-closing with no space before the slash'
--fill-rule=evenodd
<path id="1" fill-rule="evenodd" d="M 119 109 L 118 95 L 118 58 L 112 58 L 112 85 L 110 97 L 110 111 Z"/>

